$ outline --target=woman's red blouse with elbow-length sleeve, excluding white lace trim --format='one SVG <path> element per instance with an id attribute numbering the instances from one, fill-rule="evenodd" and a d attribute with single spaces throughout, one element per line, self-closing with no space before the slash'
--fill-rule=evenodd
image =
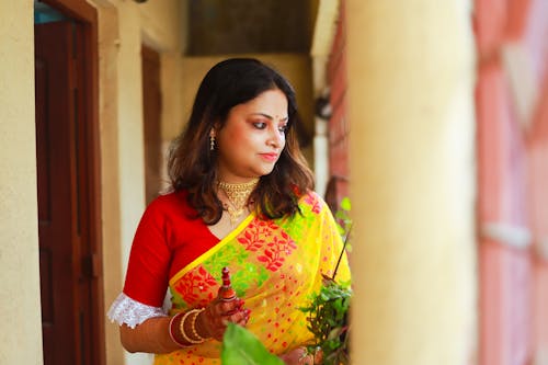
<path id="1" fill-rule="evenodd" d="M 129 254 L 124 294 L 161 307 L 169 278 L 219 242 L 196 218 L 186 192 L 157 197 L 145 210 Z"/>

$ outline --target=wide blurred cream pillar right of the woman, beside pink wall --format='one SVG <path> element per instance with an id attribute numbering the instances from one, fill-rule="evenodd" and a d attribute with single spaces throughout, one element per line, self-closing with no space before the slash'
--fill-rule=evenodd
<path id="1" fill-rule="evenodd" d="M 471 1 L 347 0 L 353 364 L 476 344 Z"/>

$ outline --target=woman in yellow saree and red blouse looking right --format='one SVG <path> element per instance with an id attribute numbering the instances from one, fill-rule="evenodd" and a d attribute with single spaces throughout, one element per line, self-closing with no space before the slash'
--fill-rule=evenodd
<path id="1" fill-rule="evenodd" d="M 109 311 L 127 351 L 155 353 L 157 365 L 220 364 L 235 322 L 286 364 L 313 363 L 299 307 L 332 274 L 342 243 L 311 191 L 295 123 L 293 88 L 259 60 L 228 59 L 205 76 L 169 157 L 173 191 L 147 207 Z M 225 266 L 233 300 L 218 297 Z M 345 256 L 338 277 L 350 278 Z"/>

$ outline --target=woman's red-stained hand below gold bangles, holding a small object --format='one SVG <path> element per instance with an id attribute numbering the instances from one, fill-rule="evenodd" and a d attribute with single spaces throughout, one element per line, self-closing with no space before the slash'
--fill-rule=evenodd
<path id="1" fill-rule="evenodd" d="M 225 301 L 216 298 L 210 301 L 196 319 L 197 330 L 204 338 L 214 338 L 222 341 L 222 335 L 229 322 L 246 327 L 249 321 L 250 309 L 243 308 L 242 299 Z"/>

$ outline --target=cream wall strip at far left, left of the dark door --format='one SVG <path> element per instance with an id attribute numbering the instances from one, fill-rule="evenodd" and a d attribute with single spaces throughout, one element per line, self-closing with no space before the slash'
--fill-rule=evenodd
<path id="1" fill-rule="evenodd" d="M 32 1 L 0 1 L 0 364 L 42 364 Z"/>

